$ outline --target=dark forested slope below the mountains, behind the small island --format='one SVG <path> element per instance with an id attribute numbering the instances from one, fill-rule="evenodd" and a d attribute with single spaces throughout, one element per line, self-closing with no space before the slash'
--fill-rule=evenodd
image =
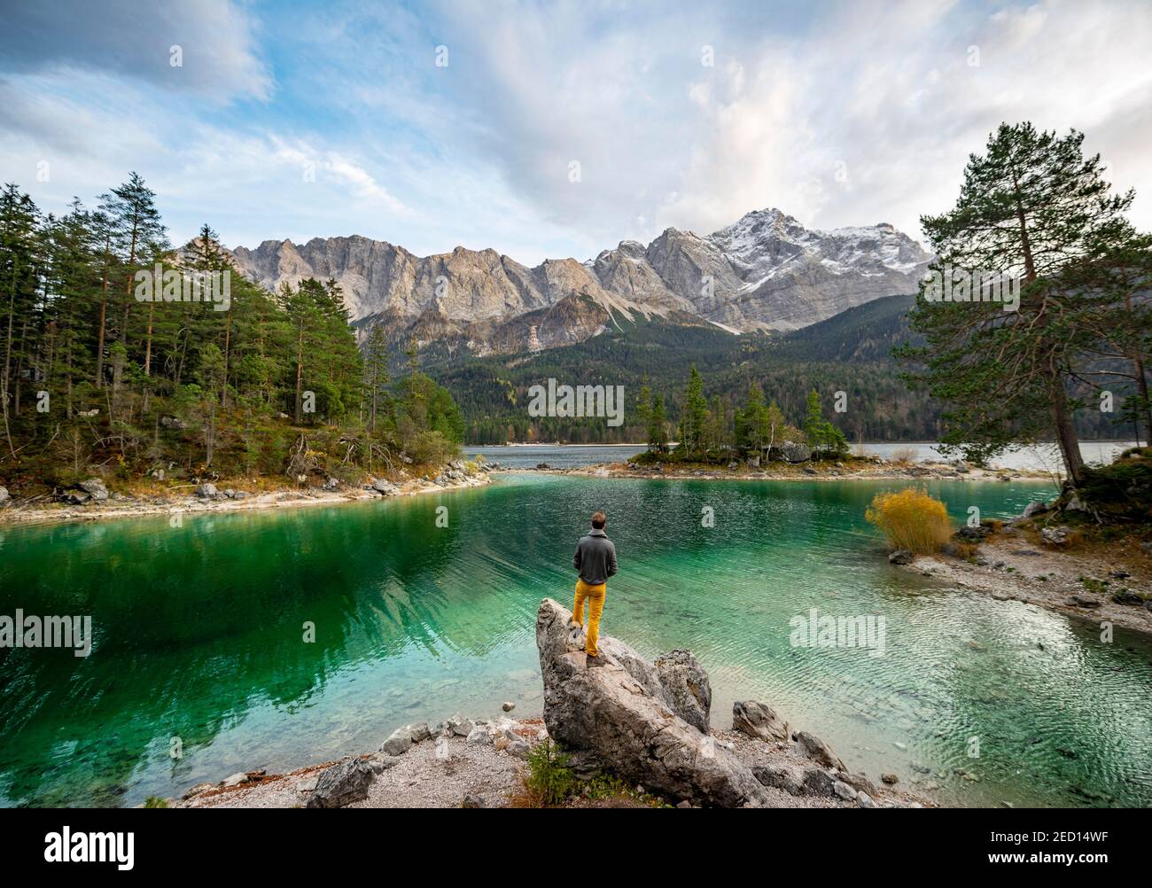
<path id="1" fill-rule="evenodd" d="M 727 426 L 752 385 L 774 401 L 789 422 L 801 424 L 808 396 L 821 395 L 826 419 L 851 440 L 934 441 L 945 433 L 942 402 L 902 378 L 893 349 L 919 344 L 908 325 L 916 296 L 889 296 L 848 309 L 827 320 L 787 334 L 734 336 L 712 325 L 669 324 L 615 317 L 615 329 L 578 344 L 535 355 L 498 355 L 432 363 L 425 370 L 462 404 L 469 443 L 505 441 L 644 442 L 638 410 L 641 389 L 664 396 L 669 420 L 683 410 L 683 380 L 696 366 L 710 404 L 719 399 Z M 529 417 L 524 405 L 532 385 L 556 379 L 569 385 L 622 385 L 627 410 L 621 426 L 602 419 Z M 1082 389 L 1086 387 L 1081 386 Z M 1116 403 L 1131 385 L 1120 381 Z M 835 395 L 844 393 L 842 412 Z M 1085 407 L 1076 412 L 1085 438 L 1128 438 L 1131 419 L 1120 409 Z"/>

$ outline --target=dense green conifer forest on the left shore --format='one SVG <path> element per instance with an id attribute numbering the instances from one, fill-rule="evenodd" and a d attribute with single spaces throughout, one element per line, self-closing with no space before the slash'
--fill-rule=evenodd
<path id="1" fill-rule="evenodd" d="M 335 477 L 458 449 L 452 396 L 363 351 L 333 281 L 276 294 L 211 228 L 173 250 L 143 180 L 56 218 L 0 193 L 0 478 L 35 491 L 93 469 L 169 484 Z"/>

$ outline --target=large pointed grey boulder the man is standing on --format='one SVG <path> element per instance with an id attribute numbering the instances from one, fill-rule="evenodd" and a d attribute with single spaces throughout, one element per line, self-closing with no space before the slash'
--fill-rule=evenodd
<path id="1" fill-rule="evenodd" d="M 607 637 L 600 645 L 604 665 L 588 668 L 582 633 L 569 629 L 570 620 L 548 598 L 536 616 L 544 722 L 554 741 L 675 799 L 722 807 L 767 804 L 751 769 L 651 693 L 612 653 Z"/>

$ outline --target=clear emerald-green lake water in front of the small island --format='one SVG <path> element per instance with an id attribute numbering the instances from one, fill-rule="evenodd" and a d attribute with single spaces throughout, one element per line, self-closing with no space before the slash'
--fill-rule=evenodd
<path id="1" fill-rule="evenodd" d="M 851 768 L 931 781 L 950 803 L 1152 805 L 1152 645 L 1120 631 L 1104 644 L 1060 614 L 889 567 L 863 514 L 901 486 L 511 475 L 423 498 L 184 516 L 181 529 L 7 529 L 0 614 L 91 614 L 96 646 L 86 659 L 0 651 L 0 800 L 135 804 L 371 750 L 457 709 L 511 699 L 517 715 L 539 713 L 536 608 L 570 601 L 571 551 L 604 508 L 621 563 L 604 631 L 649 655 L 691 647 L 714 724 L 734 699 L 761 699 Z M 957 519 L 1051 495 L 929 487 Z M 884 655 L 791 644 L 789 620 L 811 608 L 884 616 Z"/>

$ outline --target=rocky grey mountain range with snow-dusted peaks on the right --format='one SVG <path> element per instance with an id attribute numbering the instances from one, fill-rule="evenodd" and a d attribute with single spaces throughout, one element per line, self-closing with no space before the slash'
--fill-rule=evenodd
<path id="1" fill-rule="evenodd" d="M 668 228 L 647 245 L 622 241 L 588 261 L 536 267 L 491 249 L 417 257 L 358 235 L 265 241 L 233 256 L 270 289 L 335 279 L 361 331 L 382 325 L 389 341 L 449 358 L 574 344 L 619 319 L 794 331 L 915 291 L 932 259 L 887 223 L 819 232 L 774 208 L 706 237 Z"/>

